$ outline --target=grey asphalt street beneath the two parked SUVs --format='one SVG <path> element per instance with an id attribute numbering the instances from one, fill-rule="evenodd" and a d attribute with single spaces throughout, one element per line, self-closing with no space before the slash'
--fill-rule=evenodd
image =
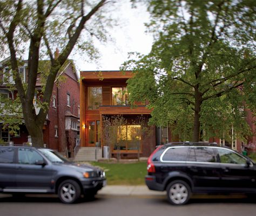
<path id="1" fill-rule="evenodd" d="M 172 206 L 166 197 L 140 195 L 116 196 L 98 194 L 93 200 L 81 198 L 77 204 L 62 204 L 57 196 L 27 195 L 14 198 L 0 194 L 0 215 L 3 216 L 252 216 L 256 212 L 256 200 L 227 196 L 191 199 L 185 206 Z"/>

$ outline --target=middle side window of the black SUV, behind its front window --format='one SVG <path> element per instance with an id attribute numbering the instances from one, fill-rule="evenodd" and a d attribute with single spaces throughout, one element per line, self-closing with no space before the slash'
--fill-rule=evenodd
<path id="1" fill-rule="evenodd" d="M 190 150 L 187 161 L 195 162 L 217 162 L 215 151 L 208 147 L 193 147 Z"/>

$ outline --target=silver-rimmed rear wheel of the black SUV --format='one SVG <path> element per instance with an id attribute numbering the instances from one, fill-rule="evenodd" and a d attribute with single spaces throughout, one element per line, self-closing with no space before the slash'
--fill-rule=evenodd
<path id="1" fill-rule="evenodd" d="M 190 199 L 190 186 L 183 180 L 174 180 L 166 189 L 167 198 L 173 205 L 184 205 Z"/>

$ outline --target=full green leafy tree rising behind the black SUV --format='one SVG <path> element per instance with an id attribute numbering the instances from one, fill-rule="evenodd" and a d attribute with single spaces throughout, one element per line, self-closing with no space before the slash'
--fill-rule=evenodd
<path id="1" fill-rule="evenodd" d="M 149 102 L 151 124 L 169 125 L 198 142 L 250 130 L 242 107 L 255 110 L 255 1 L 146 1 L 151 52 L 134 54 L 131 103 Z"/>

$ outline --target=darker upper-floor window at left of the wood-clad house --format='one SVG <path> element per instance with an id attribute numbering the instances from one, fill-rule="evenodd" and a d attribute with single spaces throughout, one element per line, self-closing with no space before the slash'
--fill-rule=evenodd
<path id="1" fill-rule="evenodd" d="M 88 87 L 87 109 L 98 109 L 102 104 L 102 87 Z"/>

